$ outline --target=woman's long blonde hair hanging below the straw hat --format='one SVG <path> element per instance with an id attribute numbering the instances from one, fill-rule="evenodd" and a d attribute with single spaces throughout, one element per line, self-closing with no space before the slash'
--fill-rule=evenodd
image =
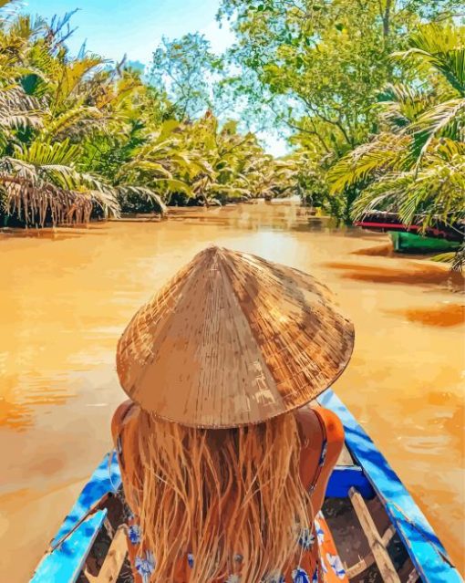
<path id="1" fill-rule="evenodd" d="M 128 438 L 132 471 L 123 484 L 140 517 L 141 545 L 156 558 L 151 581 L 174 580 L 187 553 L 191 583 L 279 580 L 313 518 L 293 413 L 209 430 L 140 411 Z"/>

